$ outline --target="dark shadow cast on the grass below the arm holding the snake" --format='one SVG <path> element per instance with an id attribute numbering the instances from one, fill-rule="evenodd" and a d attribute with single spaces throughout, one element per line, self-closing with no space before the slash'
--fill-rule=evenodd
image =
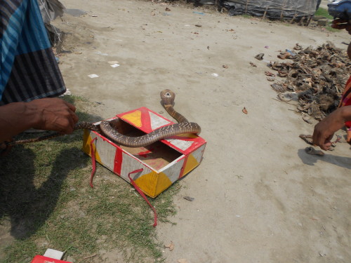
<path id="1" fill-rule="evenodd" d="M 69 168 L 77 164 L 67 164 L 62 170 L 62 160 L 77 151 L 77 148 L 61 151 L 47 180 L 38 188 L 34 186 L 36 154 L 32 149 L 18 147 L 0 161 L 0 217 L 10 217 L 11 236 L 31 236 L 51 215 Z"/>

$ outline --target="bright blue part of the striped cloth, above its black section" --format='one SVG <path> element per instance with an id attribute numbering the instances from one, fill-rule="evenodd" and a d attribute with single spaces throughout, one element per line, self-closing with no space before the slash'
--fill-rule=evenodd
<path id="1" fill-rule="evenodd" d="M 0 26 L 2 32 L 0 36 L 1 100 L 11 75 L 15 56 L 50 48 L 50 41 L 41 18 L 37 0 L 22 0 L 18 6 L 13 4 L 11 0 L 0 2 Z M 6 15 L 8 13 L 10 15 Z"/>

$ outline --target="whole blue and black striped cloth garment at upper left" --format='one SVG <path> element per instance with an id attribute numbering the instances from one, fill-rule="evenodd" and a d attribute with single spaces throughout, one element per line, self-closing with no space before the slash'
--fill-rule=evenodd
<path id="1" fill-rule="evenodd" d="M 37 0 L 0 0 L 0 55 L 0 104 L 65 93 Z"/>

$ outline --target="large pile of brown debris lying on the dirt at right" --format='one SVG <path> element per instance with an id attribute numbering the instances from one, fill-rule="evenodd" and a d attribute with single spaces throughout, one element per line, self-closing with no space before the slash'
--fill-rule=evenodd
<path id="1" fill-rule="evenodd" d="M 331 42 L 317 48 L 303 49 L 298 43 L 293 50 L 286 50 L 278 58 L 289 62 L 270 62 L 267 66 L 277 71 L 285 81 L 276 81 L 272 88 L 280 100 L 296 97 L 297 109 L 321 120 L 338 107 L 345 83 L 350 76 L 351 63 L 346 48 L 336 48 Z M 269 74 L 270 81 L 275 74 Z"/>

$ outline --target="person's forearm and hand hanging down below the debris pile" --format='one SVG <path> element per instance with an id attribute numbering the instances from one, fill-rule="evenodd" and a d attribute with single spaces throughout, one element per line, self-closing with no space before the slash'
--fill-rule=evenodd
<path id="1" fill-rule="evenodd" d="M 340 107 L 317 123 L 312 135 L 313 144 L 327 150 L 334 133 L 343 128 L 346 121 L 351 121 L 351 106 Z"/>

